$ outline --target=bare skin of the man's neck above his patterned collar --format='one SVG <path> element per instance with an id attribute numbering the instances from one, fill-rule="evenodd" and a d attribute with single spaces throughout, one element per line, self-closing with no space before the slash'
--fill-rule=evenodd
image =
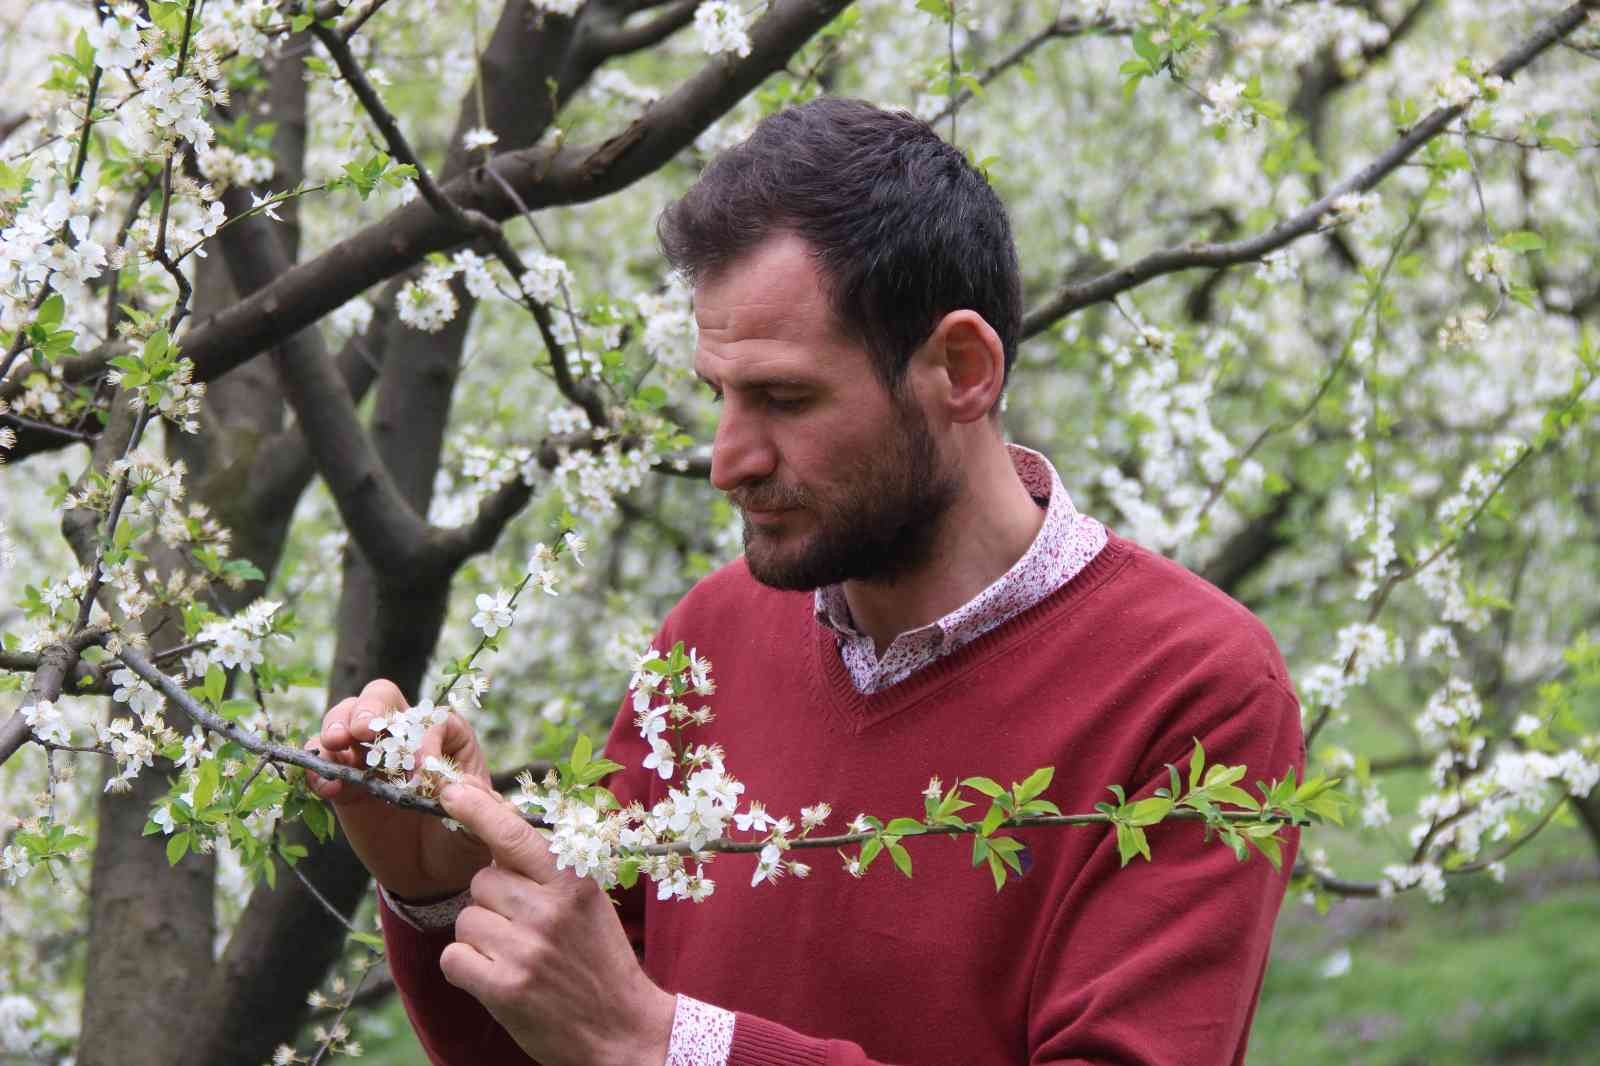
<path id="1" fill-rule="evenodd" d="M 872 637 L 878 655 L 899 634 L 944 618 L 994 584 L 1045 523 L 1005 445 L 974 458 L 923 567 L 893 583 L 845 583 L 851 621 Z"/>

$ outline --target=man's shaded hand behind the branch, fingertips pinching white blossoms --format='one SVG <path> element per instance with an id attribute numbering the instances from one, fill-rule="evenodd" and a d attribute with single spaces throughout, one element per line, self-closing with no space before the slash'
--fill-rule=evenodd
<path id="1" fill-rule="evenodd" d="M 376 735 L 371 720 L 403 711 L 406 699 L 390 680 L 370 682 L 360 696 L 342 699 L 322 719 L 322 735 L 306 747 L 328 762 L 366 767 L 366 744 Z M 418 749 L 421 768 L 429 755 L 454 762 L 478 787 L 490 789 L 488 763 L 472 728 L 451 712 L 432 727 Z M 472 876 L 490 864 L 490 850 L 464 832 L 451 832 L 440 818 L 394 807 L 358 784 L 306 775 L 312 791 L 333 804 L 344 836 L 378 884 L 402 900 L 429 900 L 466 892 Z"/>

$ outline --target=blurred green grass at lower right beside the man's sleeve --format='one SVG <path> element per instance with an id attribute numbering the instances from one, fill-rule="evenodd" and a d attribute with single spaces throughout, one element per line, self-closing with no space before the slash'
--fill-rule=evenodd
<path id="1" fill-rule="evenodd" d="M 1251 1066 L 1597 1061 L 1600 882 L 1592 861 L 1566 869 L 1579 880 L 1528 871 L 1520 885 L 1453 888 L 1437 906 L 1286 909 Z M 1339 949 L 1349 973 L 1323 976 Z"/>

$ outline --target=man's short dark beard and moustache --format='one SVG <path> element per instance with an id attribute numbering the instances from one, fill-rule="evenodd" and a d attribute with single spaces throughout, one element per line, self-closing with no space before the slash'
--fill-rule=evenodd
<path id="1" fill-rule="evenodd" d="M 757 581 L 787 591 L 842 581 L 893 584 L 928 562 L 960 483 L 941 467 L 922 408 L 898 397 L 894 407 L 899 418 L 890 440 L 840 471 L 834 495 L 776 482 L 731 493 L 741 509 L 794 507 L 814 519 L 798 544 L 744 519 L 744 559 Z"/>

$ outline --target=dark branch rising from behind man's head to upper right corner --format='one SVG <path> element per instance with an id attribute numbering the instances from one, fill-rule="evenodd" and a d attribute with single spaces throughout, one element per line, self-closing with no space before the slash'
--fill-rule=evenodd
<path id="1" fill-rule="evenodd" d="M 1578 3 L 1568 6 L 1509 51 L 1499 62 L 1490 67 L 1486 74 L 1510 80 L 1512 75 L 1533 62 L 1541 53 L 1550 48 L 1550 45 L 1573 32 L 1584 21 L 1584 16 L 1597 6 L 1600 6 L 1600 0 L 1579 0 Z M 1058 319 L 1091 304 L 1112 299 L 1118 293 L 1136 288 L 1150 279 L 1194 267 L 1226 267 L 1237 266 L 1240 262 L 1251 262 L 1254 259 L 1261 259 L 1269 251 L 1275 251 L 1296 238 L 1304 237 L 1306 234 L 1317 232 L 1322 226 L 1320 219 L 1330 213 L 1334 200 L 1342 195 L 1365 192 L 1376 186 L 1413 154 L 1416 154 L 1418 149 L 1443 133 L 1443 130 L 1451 122 L 1459 118 L 1464 110 L 1466 106 L 1454 106 L 1440 107 L 1430 112 L 1365 168 L 1341 181 L 1338 186 L 1330 189 L 1326 195 L 1302 210 L 1299 214 L 1278 222 L 1262 234 L 1229 243 L 1179 245 L 1178 248 L 1152 253 L 1136 262 L 1101 274 L 1099 277 L 1062 287 L 1053 298 L 1027 314 L 1022 322 L 1022 336 L 1030 338 L 1043 333 Z"/>

